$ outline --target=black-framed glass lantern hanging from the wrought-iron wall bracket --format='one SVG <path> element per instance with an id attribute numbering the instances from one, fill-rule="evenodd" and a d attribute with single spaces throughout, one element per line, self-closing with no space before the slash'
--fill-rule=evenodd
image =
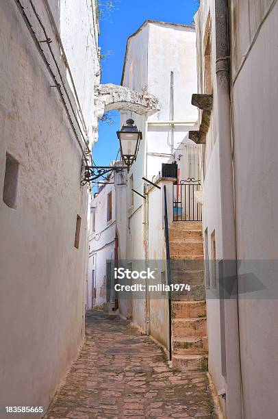
<path id="1" fill-rule="evenodd" d="M 127 119 L 127 125 L 123 125 L 121 131 L 117 131 L 117 136 L 120 141 L 122 160 L 127 165 L 127 172 L 129 172 L 131 164 L 137 157 L 142 132 L 138 131 L 133 119 Z"/>

